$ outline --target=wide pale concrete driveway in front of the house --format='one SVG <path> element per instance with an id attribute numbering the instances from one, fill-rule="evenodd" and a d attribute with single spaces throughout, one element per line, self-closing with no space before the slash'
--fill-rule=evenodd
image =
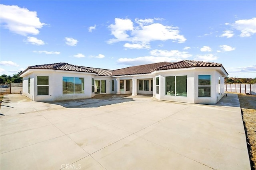
<path id="1" fill-rule="evenodd" d="M 239 106 L 236 94 L 217 105 L 5 95 L 0 169 L 250 170 Z"/>

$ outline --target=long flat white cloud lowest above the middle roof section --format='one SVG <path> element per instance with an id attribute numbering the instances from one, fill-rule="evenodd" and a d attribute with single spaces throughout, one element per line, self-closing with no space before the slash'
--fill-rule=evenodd
<path id="1" fill-rule="evenodd" d="M 180 61 L 170 57 L 154 57 L 154 56 L 145 56 L 145 57 L 137 57 L 137 58 L 120 58 L 116 62 L 119 64 L 126 64 L 126 65 L 140 65 L 140 64 L 149 64 L 149 63 L 158 63 L 158 62 L 174 62 Z"/>

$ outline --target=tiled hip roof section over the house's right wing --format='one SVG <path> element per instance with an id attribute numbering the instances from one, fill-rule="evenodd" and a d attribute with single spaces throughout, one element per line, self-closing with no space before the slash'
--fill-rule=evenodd
<path id="1" fill-rule="evenodd" d="M 190 68 L 190 67 L 222 67 L 225 70 L 225 68 L 220 63 L 211 63 L 211 62 L 193 61 L 193 60 L 183 60 L 183 61 L 170 63 L 166 66 L 160 66 L 155 70 L 170 70 L 170 69 Z"/>

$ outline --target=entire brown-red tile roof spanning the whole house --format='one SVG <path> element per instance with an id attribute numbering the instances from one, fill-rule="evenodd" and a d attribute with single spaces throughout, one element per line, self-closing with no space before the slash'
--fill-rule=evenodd
<path id="1" fill-rule="evenodd" d="M 76 66 L 68 63 L 54 63 L 54 64 L 29 66 L 26 70 L 52 69 L 52 70 L 91 72 L 91 73 L 96 73 L 99 76 L 124 76 L 124 75 L 133 75 L 133 74 L 148 74 L 156 70 L 170 70 L 170 69 L 190 68 L 190 67 L 222 67 L 225 70 L 225 68 L 220 63 L 210 63 L 210 62 L 192 61 L 192 60 L 183 60 L 183 61 L 178 61 L 174 63 L 161 62 L 161 63 L 153 63 L 153 64 L 144 64 L 139 66 L 130 66 L 126 68 L 121 68 L 118 70 Z M 24 73 L 26 70 L 24 70 L 22 73 Z"/>

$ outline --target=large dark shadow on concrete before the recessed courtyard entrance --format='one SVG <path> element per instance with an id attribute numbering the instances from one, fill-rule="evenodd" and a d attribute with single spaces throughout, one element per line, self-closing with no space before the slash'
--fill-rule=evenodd
<path id="1" fill-rule="evenodd" d="M 63 100 L 55 102 L 44 102 L 48 104 L 56 104 L 66 108 L 89 108 L 89 107 L 100 107 L 107 106 L 111 104 L 118 104 L 124 102 L 133 101 L 132 98 L 128 98 L 130 94 L 101 94 L 96 95 L 89 99 L 76 99 L 76 100 Z"/>

